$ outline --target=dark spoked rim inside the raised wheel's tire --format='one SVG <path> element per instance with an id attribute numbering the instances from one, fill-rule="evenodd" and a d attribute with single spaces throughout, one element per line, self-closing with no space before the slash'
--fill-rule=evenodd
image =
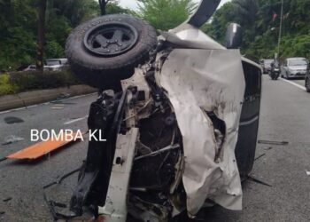
<path id="1" fill-rule="evenodd" d="M 111 22 L 91 28 L 84 37 L 84 46 L 89 52 L 108 57 L 128 52 L 137 40 L 136 28 L 119 22 Z"/>

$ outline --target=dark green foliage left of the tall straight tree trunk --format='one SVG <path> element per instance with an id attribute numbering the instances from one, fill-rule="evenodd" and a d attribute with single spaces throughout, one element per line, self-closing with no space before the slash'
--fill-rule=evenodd
<path id="1" fill-rule="evenodd" d="M 0 0 L 0 70 L 35 61 L 36 9 L 32 0 Z"/>

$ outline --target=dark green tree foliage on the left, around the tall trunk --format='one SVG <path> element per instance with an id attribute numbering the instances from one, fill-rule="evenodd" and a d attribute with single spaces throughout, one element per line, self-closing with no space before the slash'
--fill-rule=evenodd
<path id="1" fill-rule="evenodd" d="M 35 64 L 38 0 L 0 0 L 0 71 Z M 107 13 L 127 12 L 117 1 Z M 66 37 L 72 28 L 100 15 L 95 0 L 47 0 L 44 57 L 65 56 Z"/>

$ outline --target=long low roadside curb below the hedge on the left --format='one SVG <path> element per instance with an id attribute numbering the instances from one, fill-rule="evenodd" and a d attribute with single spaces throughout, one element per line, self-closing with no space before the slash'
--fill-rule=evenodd
<path id="1" fill-rule="evenodd" d="M 0 97 L 0 111 L 28 107 L 38 103 L 48 102 L 53 99 L 58 99 L 61 95 L 70 94 L 70 96 L 79 96 L 96 92 L 97 89 L 87 85 L 73 85 L 69 87 L 41 90 L 41 91 L 26 91 L 18 94 L 5 95 Z"/>

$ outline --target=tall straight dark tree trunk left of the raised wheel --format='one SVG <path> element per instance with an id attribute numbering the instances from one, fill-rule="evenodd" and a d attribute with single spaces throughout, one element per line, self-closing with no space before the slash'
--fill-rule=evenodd
<path id="1" fill-rule="evenodd" d="M 43 50 L 44 50 L 44 38 L 45 38 L 45 11 L 46 1 L 39 0 L 38 7 L 38 48 L 36 54 L 36 69 L 43 72 Z"/>

